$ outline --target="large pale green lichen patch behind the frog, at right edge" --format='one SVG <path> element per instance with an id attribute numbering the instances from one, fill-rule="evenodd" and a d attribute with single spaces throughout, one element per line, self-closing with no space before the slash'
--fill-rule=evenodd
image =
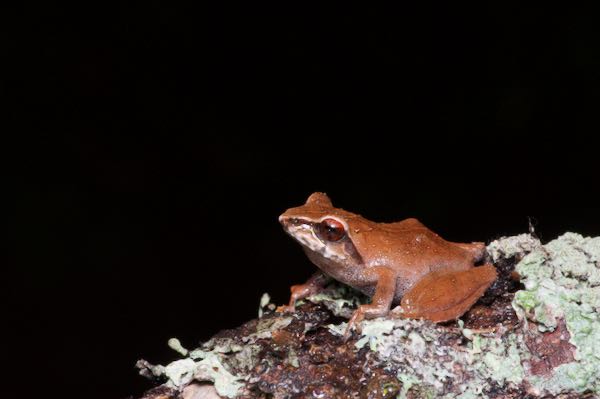
<path id="1" fill-rule="evenodd" d="M 576 347 L 574 362 L 561 364 L 548 377 L 529 379 L 539 392 L 600 391 L 600 237 L 566 233 L 527 255 L 517 265 L 525 290 L 513 307 L 540 331 L 564 320 Z"/>

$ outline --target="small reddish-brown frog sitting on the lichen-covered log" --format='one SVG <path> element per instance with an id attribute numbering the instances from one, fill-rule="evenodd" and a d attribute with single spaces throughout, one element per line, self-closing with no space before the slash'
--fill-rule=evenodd
<path id="1" fill-rule="evenodd" d="M 444 322 L 463 315 L 496 279 L 490 264 L 475 267 L 484 243 L 444 240 L 417 219 L 376 223 L 333 207 L 324 193 L 285 211 L 279 221 L 321 269 L 306 283 L 291 287 L 289 305 L 321 291 L 335 279 L 372 297 L 348 323 L 384 316 L 392 304 L 402 317 Z"/>

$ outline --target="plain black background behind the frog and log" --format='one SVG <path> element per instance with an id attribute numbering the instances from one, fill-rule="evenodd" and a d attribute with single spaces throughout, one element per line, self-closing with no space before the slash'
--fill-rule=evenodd
<path id="1" fill-rule="evenodd" d="M 277 216 L 313 191 L 453 241 L 600 234 L 593 10 L 86 4 L 4 15 L 9 392 L 139 395 L 169 337 L 287 301 L 314 266 Z"/>

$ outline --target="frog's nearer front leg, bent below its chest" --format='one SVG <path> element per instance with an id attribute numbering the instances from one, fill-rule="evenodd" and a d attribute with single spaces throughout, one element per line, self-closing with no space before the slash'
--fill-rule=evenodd
<path id="1" fill-rule="evenodd" d="M 363 319 L 372 319 L 388 314 L 392 301 L 394 300 L 394 294 L 396 292 L 396 273 L 387 267 L 374 267 L 372 269 L 367 269 L 366 276 L 377 282 L 375 294 L 373 295 L 370 304 L 360 305 L 358 309 L 354 311 L 352 318 L 348 321 L 344 339 L 348 339 L 352 328 L 355 325 L 359 325 Z"/>

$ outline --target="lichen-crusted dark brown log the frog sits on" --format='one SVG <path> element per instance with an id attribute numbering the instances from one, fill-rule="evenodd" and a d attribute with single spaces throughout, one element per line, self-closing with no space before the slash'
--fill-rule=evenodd
<path id="1" fill-rule="evenodd" d="M 524 234 L 488 246 L 498 281 L 461 320 L 345 322 L 367 298 L 343 286 L 215 335 L 166 366 L 144 399 L 582 397 L 600 391 L 600 238 Z M 515 268 L 516 266 L 516 268 Z M 516 272 L 516 273 L 515 273 Z M 515 279 L 516 274 L 521 281 Z M 210 383 L 200 388 L 198 383 Z M 207 393 L 205 393 L 207 392 Z M 196 396 L 197 395 L 197 396 Z"/>

